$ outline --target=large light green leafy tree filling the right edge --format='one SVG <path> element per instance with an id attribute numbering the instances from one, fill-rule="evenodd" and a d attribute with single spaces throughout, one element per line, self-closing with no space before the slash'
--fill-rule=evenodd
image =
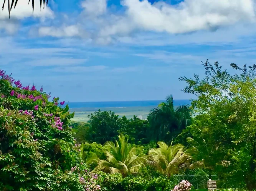
<path id="1" fill-rule="evenodd" d="M 194 157 L 205 167 L 224 177 L 233 177 L 233 184 L 241 181 L 248 189 L 256 188 L 256 65 L 239 68 L 231 75 L 219 66 L 206 61 L 205 77 L 185 77 L 184 92 L 195 94 L 192 107 L 198 115 L 188 129 L 188 142 Z M 241 184 L 243 186 L 243 183 Z"/>

